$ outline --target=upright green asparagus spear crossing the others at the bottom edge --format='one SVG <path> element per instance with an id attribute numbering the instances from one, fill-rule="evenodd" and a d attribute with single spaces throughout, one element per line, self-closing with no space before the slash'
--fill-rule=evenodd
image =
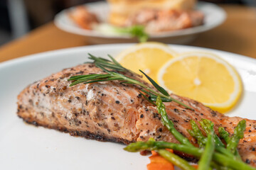
<path id="1" fill-rule="evenodd" d="M 210 168 L 210 161 L 213 157 L 213 152 L 215 149 L 213 135 L 214 135 L 213 123 L 210 123 L 210 132 L 207 137 L 205 150 L 202 154 L 200 161 L 198 162 L 198 170 L 206 170 Z"/>

